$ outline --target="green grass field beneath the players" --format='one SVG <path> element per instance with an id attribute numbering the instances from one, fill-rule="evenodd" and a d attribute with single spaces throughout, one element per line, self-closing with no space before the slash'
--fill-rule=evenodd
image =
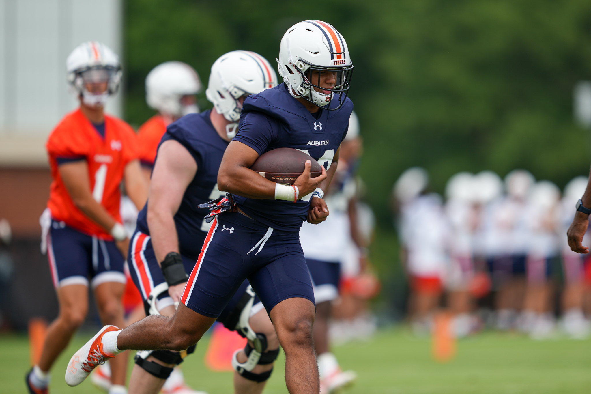
<path id="1" fill-rule="evenodd" d="M 92 336 L 79 334 L 54 367 L 51 393 L 99 394 L 89 381 L 76 388 L 64 382 L 70 355 Z M 208 338 L 196 354 L 183 363 L 187 382 L 210 394 L 232 393 L 231 373 L 214 373 L 204 367 Z M 462 340 L 449 363 L 431 359 L 430 341 L 407 330 L 379 331 L 367 343 L 335 348 L 343 369 L 353 369 L 359 379 L 347 394 L 567 394 L 591 392 L 591 340 L 532 341 L 512 334 L 485 333 Z M 28 339 L 24 335 L 0 336 L 0 393 L 25 393 L 24 373 L 29 368 Z M 287 393 L 281 353 L 265 393 Z"/>

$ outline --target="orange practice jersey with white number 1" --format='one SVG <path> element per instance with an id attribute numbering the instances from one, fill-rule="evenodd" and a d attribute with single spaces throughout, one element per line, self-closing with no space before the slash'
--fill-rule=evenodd
<path id="1" fill-rule="evenodd" d="M 105 115 L 105 138 L 96 131 L 80 109 L 69 113 L 51 132 L 46 144 L 51 167 L 51 190 L 47 207 L 51 216 L 80 232 L 112 240 L 113 237 L 89 219 L 73 203 L 61 180 L 57 158 L 85 157 L 92 196 L 121 223 L 119 185 L 125 166 L 138 158 L 137 136 L 124 121 Z"/>

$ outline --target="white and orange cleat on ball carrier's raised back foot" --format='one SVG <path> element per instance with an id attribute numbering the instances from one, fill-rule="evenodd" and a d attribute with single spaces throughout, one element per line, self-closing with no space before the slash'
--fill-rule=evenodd
<path id="1" fill-rule="evenodd" d="M 92 337 L 84 346 L 82 346 L 70 359 L 66 368 L 66 384 L 68 386 L 77 386 L 84 382 L 93 369 L 106 360 L 115 357 L 115 354 L 103 353 L 103 344 L 101 342 L 103 335 L 109 331 L 119 331 L 114 325 L 105 325 L 94 337 Z"/>

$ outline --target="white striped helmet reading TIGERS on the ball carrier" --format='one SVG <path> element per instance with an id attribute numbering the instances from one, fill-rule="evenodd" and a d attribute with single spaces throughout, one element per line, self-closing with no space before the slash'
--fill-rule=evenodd
<path id="1" fill-rule="evenodd" d="M 279 74 L 290 87 L 291 96 L 303 97 L 324 108 L 335 94 L 339 95 L 339 105 L 326 108 L 329 110 L 339 109 L 345 103 L 353 63 L 345 38 L 331 25 L 322 21 L 303 21 L 293 25 L 281 38 L 279 58 L 276 60 Z M 335 87 L 320 87 L 320 74 L 330 71 L 336 72 Z"/>

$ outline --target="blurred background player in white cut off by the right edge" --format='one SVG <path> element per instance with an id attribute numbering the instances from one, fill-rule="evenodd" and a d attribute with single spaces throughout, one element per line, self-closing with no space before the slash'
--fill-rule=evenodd
<path id="1" fill-rule="evenodd" d="M 587 178 L 576 177 L 564 187 L 564 196 L 560 206 L 560 243 L 564 270 L 564 292 L 562 296 L 562 328 L 573 338 L 585 338 L 589 335 L 590 324 L 583 313 L 583 294 L 585 275 L 583 255 L 573 252 L 567 242 L 566 232 L 574 219 L 573 207 L 587 186 Z M 586 242 L 588 240 L 584 239 Z"/>

